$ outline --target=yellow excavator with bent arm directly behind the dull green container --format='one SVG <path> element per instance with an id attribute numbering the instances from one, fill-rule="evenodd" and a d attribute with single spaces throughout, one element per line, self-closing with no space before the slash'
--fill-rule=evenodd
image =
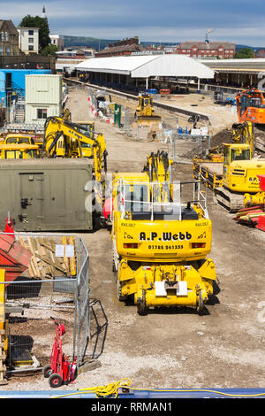
<path id="1" fill-rule="evenodd" d="M 64 117 L 54 116 L 46 120 L 42 152 L 48 158 L 94 159 L 95 179 L 100 182 L 102 168 L 107 172 L 107 150 L 102 133 L 91 135 L 85 127 Z"/>

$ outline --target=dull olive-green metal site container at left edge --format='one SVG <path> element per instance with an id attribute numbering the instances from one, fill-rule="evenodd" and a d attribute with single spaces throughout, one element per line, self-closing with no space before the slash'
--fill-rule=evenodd
<path id="1" fill-rule="evenodd" d="M 92 229 L 92 178 L 87 159 L 0 160 L 0 229 L 7 212 L 15 231 Z"/>

